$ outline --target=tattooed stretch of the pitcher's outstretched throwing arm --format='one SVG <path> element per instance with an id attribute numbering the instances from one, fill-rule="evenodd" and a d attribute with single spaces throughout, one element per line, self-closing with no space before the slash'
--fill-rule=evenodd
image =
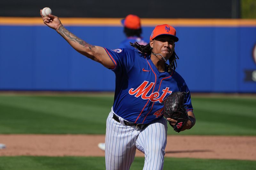
<path id="1" fill-rule="evenodd" d="M 84 46 L 84 47 L 88 47 L 90 49 L 94 48 L 95 46 L 88 44 L 87 42 L 81 40 L 80 38 L 78 38 L 76 35 L 70 33 L 64 26 L 60 26 L 58 29 L 58 32 L 64 36 L 67 37 L 69 40 L 71 41 L 75 41 L 78 42 L 80 45 Z"/>

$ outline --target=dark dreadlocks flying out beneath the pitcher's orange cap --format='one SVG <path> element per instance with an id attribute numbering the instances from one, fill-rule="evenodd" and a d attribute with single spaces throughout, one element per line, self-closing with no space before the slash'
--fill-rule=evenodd
<path id="1" fill-rule="evenodd" d="M 131 43 L 130 45 L 134 48 L 137 48 L 142 55 L 150 55 L 152 53 L 152 48 L 150 47 L 149 43 L 147 45 L 140 45 L 138 42 Z M 177 68 L 176 59 L 179 59 L 178 55 L 173 51 L 172 56 L 169 58 L 169 68 L 168 72 L 171 70 L 175 70 Z"/>

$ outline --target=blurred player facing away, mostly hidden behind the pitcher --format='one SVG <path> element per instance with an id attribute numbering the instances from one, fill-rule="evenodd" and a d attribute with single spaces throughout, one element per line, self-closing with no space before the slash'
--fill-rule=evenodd
<path id="1" fill-rule="evenodd" d="M 121 20 L 121 23 L 124 26 L 124 33 L 126 35 L 126 39 L 120 43 L 119 48 L 135 49 L 130 45 L 130 42 L 137 42 L 140 45 L 148 44 L 148 42 L 146 42 L 141 37 L 142 29 L 140 24 L 140 17 L 138 17 L 137 15 L 129 14 Z M 99 143 L 98 147 L 101 150 L 105 151 L 105 143 Z"/>

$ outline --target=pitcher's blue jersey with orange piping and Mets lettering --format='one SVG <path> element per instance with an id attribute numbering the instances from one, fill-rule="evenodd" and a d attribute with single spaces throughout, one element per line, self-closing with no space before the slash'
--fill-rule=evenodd
<path id="1" fill-rule="evenodd" d="M 193 110 L 188 87 L 177 72 L 159 72 L 150 56 L 142 56 L 137 50 L 105 50 L 115 64 L 113 111 L 118 116 L 134 123 L 153 122 L 163 116 L 165 97 L 180 91 L 187 92 L 184 104 L 187 110 Z"/>

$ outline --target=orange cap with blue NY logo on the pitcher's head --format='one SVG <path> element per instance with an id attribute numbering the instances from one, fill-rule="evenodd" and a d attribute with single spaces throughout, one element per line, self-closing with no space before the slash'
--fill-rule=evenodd
<path id="1" fill-rule="evenodd" d="M 151 33 L 149 40 L 154 40 L 159 35 L 170 35 L 174 38 L 175 42 L 179 41 L 179 38 L 176 37 L 175 28 L 168 24 L 156 26 L 153 32 Z"/>

